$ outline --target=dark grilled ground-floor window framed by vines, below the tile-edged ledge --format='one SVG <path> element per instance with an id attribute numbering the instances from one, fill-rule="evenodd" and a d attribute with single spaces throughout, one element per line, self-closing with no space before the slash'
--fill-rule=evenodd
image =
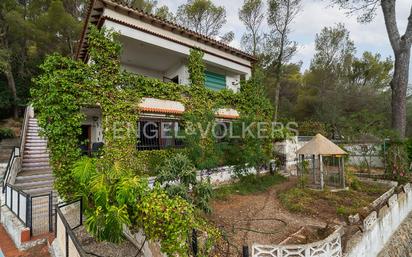
<path id="1" fill-rule="evenodd" d="M 138 122 L 138 150 L 182 147 L 181 126 L 176 120 L 147 119 Z"/>

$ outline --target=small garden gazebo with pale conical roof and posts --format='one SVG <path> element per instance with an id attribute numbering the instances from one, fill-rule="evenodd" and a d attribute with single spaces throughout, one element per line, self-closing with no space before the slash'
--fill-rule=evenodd
<path id="1" fill-rule="evenodd" d="M 345 188 L 344 157 L 347 153 L 332 141 L 317 134 L 296 151 L 298 155 L 298 174 L 305 172 L 304 161 L 311 160 L 311 184 L 324 189 L 325 184 Z M 325 158 L 328 165 L 324 165 Z M 336 167 L 337 164 L 337 167 Z"/>

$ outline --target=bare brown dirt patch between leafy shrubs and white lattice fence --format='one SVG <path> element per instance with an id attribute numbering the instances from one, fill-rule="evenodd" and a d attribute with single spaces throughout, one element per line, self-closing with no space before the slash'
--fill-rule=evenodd
<path id="1" fill-rule="evenodd" d="M 292 214 L 281 206 L 277 193 L 296 184 L 296 179 L 272 187 L 264 193 L 254 195 L 232 195 L 226 200 L 212 202 L 212 214 L 209 216 L 224 231 L 227 245 L 221 246 L 221 255 L 237 256 L 243 245 L 253 243 L 278 244 L 302 227 L 305 237 L 311 240 L 317 237 L 317 230 L 325 227 L 326 222 L 319 219 Z M 291 243 L 291 242 L 288 242 Z"/>

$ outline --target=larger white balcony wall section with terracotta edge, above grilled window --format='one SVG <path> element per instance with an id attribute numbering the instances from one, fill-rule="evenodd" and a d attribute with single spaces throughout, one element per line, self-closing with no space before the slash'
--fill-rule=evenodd
<path id="1" fill-rule="evenodd" d="M 181 102 L 144 97 L 139 104 L 143 112 L 182 114 L 185 106 Z"/>

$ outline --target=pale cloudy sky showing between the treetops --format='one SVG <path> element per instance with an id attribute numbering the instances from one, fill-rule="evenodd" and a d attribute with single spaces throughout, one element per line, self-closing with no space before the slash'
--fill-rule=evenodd
<path id="1" fill-rule="evenodd" d="M 245 29 L 238 18 L 238 12 L 243 0 L 212 1 L 226 8 L 227 23 L 222 28 L 222 33 L 230 30 L 234 31 L 235 40 L 231 45 L 240 48 L 240 38 Z M 186 0 L 158 1 L 159 5 L 167 5 L 173 12 L 176 12 L 177 7 L 185 2 Z M 401 34 L 405 31 L 411 4 L 410 0 L 397 0 L 398 27 Z M 371 51 L 373 53 L 380 53 L 383 57 L 393 56 L 380 9 L 378 9 L 377 16 L 373 22 L 361 24 L 357 22 L 356 16 L 348 17 L 344 10 L 330 6 L 329 1 L 302 0 L 302 10 L 295 18 L 292 26 L 291 40 L 298 43 L 298 51 L 292 61 L 302 61 L 302 68 L 306 69 L 314 54 L 316 33 L 319 33 L 323 27 L 333 26 L 336 23 L 345 24 L 345 27 L 350 31 L 358 55 L 361 55 L 364 51 Z M 412 66 L 410 74 L 411 81 Z"/>

